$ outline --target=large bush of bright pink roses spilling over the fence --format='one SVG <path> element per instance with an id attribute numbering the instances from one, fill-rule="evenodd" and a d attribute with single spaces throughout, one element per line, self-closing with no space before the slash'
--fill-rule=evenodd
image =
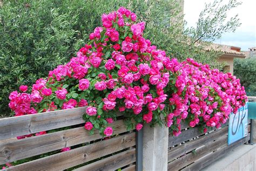
<path id="1" fill-rule="evenodd" d="M 135 23 L 130 10 L 104 14 L 102 22 L 77 57 L 37 80 L 31 93 L 21 86 L 10 94 L 16 116 L 88 105 L 83 119 L 90 133 L 112 135 L 109 123 L 122 112 L 127 129 L 164 123 L 178 136 L 181 120 L 206 132 L 245 105 L 239 79 L 190 58 L 167 57 L 143 38 L 145 23 Z"/>

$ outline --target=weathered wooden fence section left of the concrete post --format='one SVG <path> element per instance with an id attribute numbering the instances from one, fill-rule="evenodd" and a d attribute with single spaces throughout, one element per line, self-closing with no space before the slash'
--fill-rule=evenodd
<path id="1" fill-rule="evenodd" d="M 85 109 L 79 107 L 0 119 L 0 165 L 35 156 L 35 160 L 6 170 L 135 170 L 136 132 L 127 132 L 122 117 L 119 117 L 111 125 L 116 135 L 113 138 L 104 140 L 97 131 L 90 135 L 83 127 Z M 52 129 L 59 131 L 16 139 L 16 136 Z M 60 152 L 65 147 L 71 147 L 71 150 Z"/>

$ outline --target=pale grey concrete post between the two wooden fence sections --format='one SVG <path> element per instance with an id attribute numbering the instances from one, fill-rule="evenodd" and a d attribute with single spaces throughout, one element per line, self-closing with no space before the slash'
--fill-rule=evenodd
<path id="1" fill-rule="evenodd" d="M 165 126 L 143 125 L 143 170 L 167 170 L 168 134 Z"/>

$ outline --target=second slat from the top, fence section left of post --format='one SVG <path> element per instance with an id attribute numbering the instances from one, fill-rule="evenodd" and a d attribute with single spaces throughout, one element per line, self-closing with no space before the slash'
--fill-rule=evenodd
<path id="1" fill-rule="evenodd" d="M 126 132 L 123 120 L 114 121 L 110 126 L 114 128 L 113 134 Z M 78 127 L 21 140 L 12 139 L 0 144 L 0 165 L 100 138 L 98 130 L 90 135 L 84 127 Z"/>

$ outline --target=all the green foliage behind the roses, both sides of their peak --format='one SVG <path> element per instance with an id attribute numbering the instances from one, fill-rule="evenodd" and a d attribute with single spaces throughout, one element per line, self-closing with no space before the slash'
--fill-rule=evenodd
<path id="1" fill-rule="evenodd" d="M 197 41 L 213 40 L 220 35 L 214 33 L 237 26 L 235 21 L 227 29 L 214 16 L 211 20 L 212 15 L 206 10 L 199 18 L 197 29 L 184 29 L 181 10 L 174 0 L 4 1 L 0 9 L 0 113 L 9 114 L 11 91 L 22 84 L 32 85 L 37 77 L 45 77 L 47 71 L 68 61 L 101 23 L 102 13 L 117 10 L 119 6 L 140 14 L 138 20 L 147 23 L 144 37 L 165 49 L 167 55 L 179 60 L 192 57 L 213 67 L 219 67 L 215 62 L 218 53 L 206 52 L 207 43 L 198 45 Z M 235 3 L 228 6 L 232 8 Z M 214 4 L 207 8 L 215 9 Z M 225 19 L 226 11 L 215 11 L 219 11 L 218 18 Z M 204 19 L 205 16 L 209 17 Z"/>

